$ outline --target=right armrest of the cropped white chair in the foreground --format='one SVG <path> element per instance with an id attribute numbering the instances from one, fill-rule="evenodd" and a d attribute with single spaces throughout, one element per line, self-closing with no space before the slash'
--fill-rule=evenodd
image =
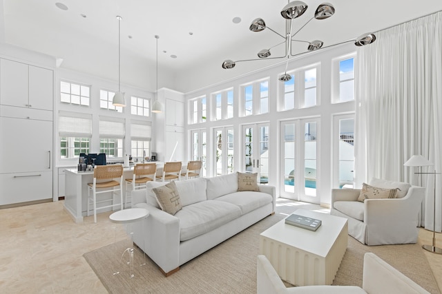
<path id="1" fill-rule="evenodd" d="M 365 253 L 363 289 L 370 294 L 429 293 L 374 253 Z"/>

